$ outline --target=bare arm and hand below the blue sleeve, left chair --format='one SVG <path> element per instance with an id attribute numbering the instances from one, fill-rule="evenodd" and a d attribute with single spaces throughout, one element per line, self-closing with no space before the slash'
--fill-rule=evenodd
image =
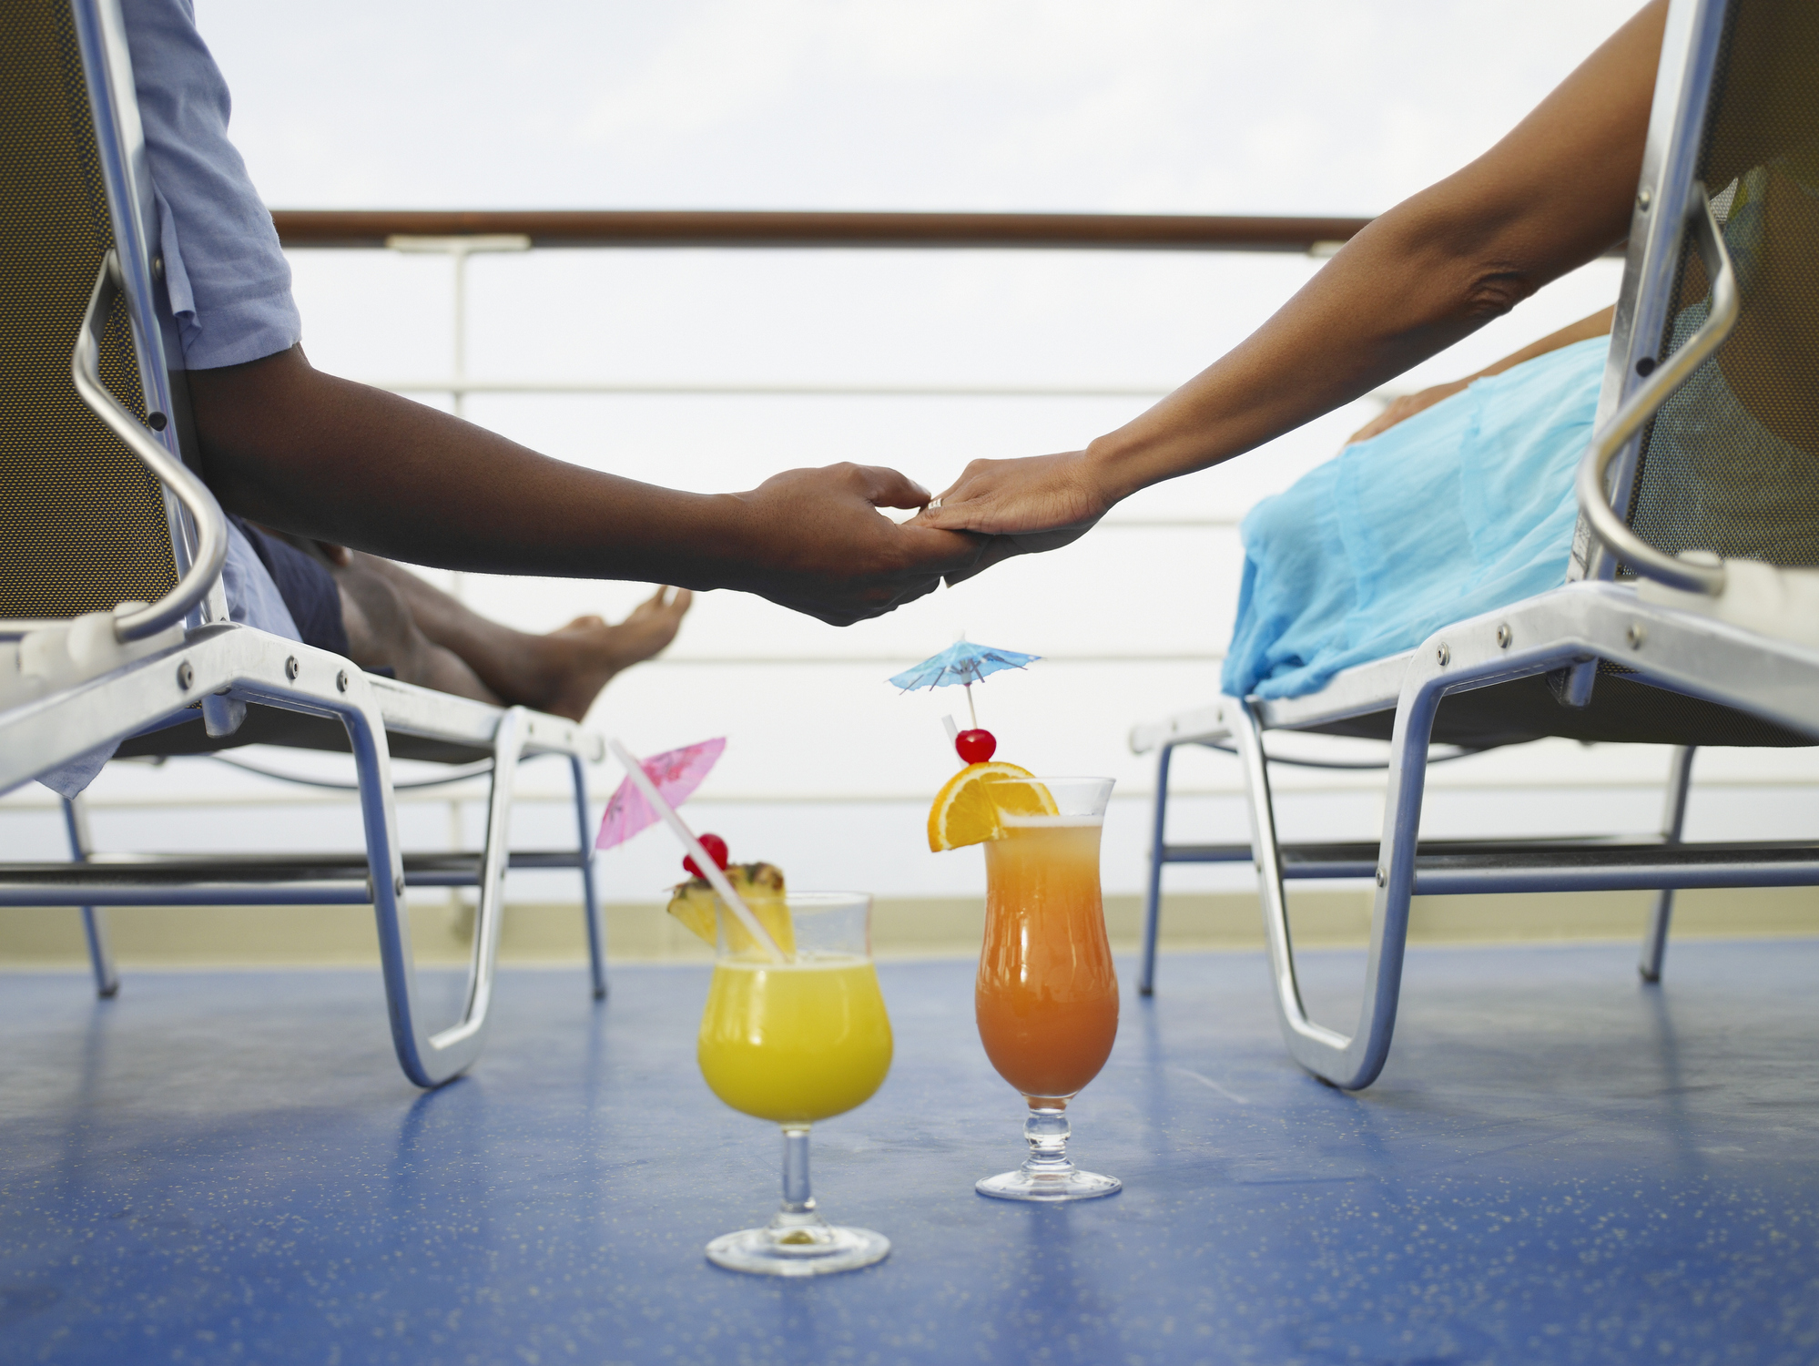
<path id="1" fill-rule="evenodd" d="M 977 537 L 897 526 L 893 469 L 793 469 L 680 493 L 538 455 L 315 369 L 302 347 L 189 373 L 204 477 L 255 522 L 409 564 L 759 593 L 835 626 L 931 591 Z"/>

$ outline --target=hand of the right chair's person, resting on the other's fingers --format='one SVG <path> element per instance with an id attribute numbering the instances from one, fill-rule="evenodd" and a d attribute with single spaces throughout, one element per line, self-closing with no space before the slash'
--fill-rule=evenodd
<path id="1" fill-rule="evenodd" d="M 959 584 L 1013 555 L 1079 540 L 1113 502 L 1086 451 L 973 460 L 910 526 L 991 537 L 973 564 L 948 573 Z"/>

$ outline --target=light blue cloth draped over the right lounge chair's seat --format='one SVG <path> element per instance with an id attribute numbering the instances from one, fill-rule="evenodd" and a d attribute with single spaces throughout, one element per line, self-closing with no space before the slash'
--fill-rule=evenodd
<path id="1" fill-rule="evenodd" d="M 1479 380 L 1251 507 L 1224 691 L 1315 693 L 1559 588 L 1608 349 L 1599 336 Z"/>

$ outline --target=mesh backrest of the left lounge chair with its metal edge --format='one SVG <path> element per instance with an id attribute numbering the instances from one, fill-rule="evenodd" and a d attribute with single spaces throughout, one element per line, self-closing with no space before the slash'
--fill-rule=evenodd
<path id="1" fill-rule="evenodd" d="M 182 458 L 113 0 L 11 0 L 0 69 L 0 628 L 16 631 L 156 602 L 187 567 L 189 540 L 176 502 L 71 382 L 76 335 L 115 251 L 120 293 L 100 377 Z"/>

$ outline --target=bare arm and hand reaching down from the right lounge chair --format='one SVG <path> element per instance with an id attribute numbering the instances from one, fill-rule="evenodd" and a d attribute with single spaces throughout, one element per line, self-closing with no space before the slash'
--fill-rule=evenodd
<path id="1" fill-rule="evenodd" d="M 1137 489 L 1370 393 L 1606 251 L 1630 227 L 1664 15 L 1666 0 L 1646 5 L 1495 147 L 1373 220 L 1168 398 L 1082 451 L 975 460 L 917 522 L 997 535 L 975 571 L 1066 544 Z"/>

